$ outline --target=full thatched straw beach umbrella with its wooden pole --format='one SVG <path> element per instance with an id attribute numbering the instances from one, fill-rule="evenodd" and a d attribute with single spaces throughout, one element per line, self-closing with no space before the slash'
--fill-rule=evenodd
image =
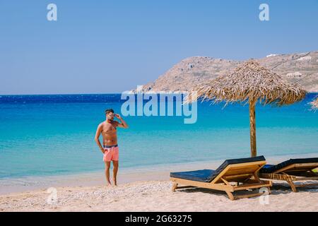
<path id="1" fill-rule="evenodd" d="M 252 157 L 257 156 L 255 105 L 257 101 L 263 105 L 290 105 L 302 100 L 306 91 L 299 85 L 284 81 L 281 76 L 261 66 L 257 61 L 249 60 L 237 66 L 228 74 L 212 81 L 197 85 L 196 97 L 212 100 L 213 103 L 225 101 L 249 104 L 250 138 Z M 188 95 L 185 102 L 192 102 Z"/>

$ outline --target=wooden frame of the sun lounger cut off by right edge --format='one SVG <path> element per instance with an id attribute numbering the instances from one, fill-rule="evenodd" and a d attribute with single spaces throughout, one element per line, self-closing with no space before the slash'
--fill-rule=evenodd
<path id="1" fill-rule="evenodd" d="M 293 192 L 297 192 L 298 187 L 318 186 L 318 183 L 295 184 L 295 182 L 307 180 L 318 181 L 318 173 L 312 171 L 312 169 L 317 167 L 318 162 L 292 164 L 278 169 L 273 173 L 261 173 L 259 177 L 262 179 L 285 181 L 290 185 Z"/>

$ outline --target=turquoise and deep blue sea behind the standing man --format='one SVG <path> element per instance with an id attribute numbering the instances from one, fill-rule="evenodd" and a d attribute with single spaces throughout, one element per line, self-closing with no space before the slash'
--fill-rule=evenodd
<path id="1" fill-rule="evenodd" d="M 308 102 L 286 107 L 257 105 L 259 155 L 312 154 L 318 157 L 318 111 Z M 0 179 L 77 174 L 104 169 L 95 144 L 105 109 L 121 114 L 119 94 L 1 95 Z M 184 117 L 124 117 L 119 128 L 119 165 L 153 167 L 249 157 L 248 106 L 198 103 L 195 124 Z M 101 138 L 100 138 L 101 140 Z"/>

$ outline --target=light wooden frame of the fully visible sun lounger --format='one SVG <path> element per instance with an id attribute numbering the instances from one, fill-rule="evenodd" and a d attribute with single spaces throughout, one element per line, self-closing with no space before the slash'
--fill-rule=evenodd
<path id="1" fill-rule="evenodd" d="M 170 177 L 173 182 L 172 191 L 176 189 L 187 189 L 192 187 L 201 187 L 206 189 L 214 189 L 219 191 L 225 191 L 228 194 L 230 200 L 238 198 L 250 198 L 255 196 L 261 196 L 263 192 L 257 192 L 256 194 L 246 194 L 240 196 L 234 196 L 235 191 L 248 190 L 248 189 L 260 189 L 267 187 L 269 194 L 271 194 L 270 187 L 272 186 L 271 181 L 264 181 L 259 179 L 258 172 L 261 167 L 266 164 L 266 161 L 257 162 L 245 162 L 239 164 L 228 165 L 223 169 L 212 182 L 196 182 L 189 179 L 179 179 L 176 177 Z M 231 184 L 235 182 L 235 184 Z M 186 186 L 178 186 L 184 184 Z"/>

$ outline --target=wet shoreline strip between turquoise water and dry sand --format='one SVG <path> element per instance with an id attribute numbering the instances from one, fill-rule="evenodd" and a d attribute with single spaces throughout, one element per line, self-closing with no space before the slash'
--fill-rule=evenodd
<path id="1" fill-rule="evenodd" d="M 277 164 L 290 158 L 317 157 L 318 154 L 309 153 L 301 155 L 273 155 L 266 157 L 268 164 Z M 134 168 L 120 168 L 117 174 L 117 184 L 129 184 L 146 181 L 167 181 L 170 172 L 191 171 L 196 169 L 216 169 L 224 160 L 208 160 L 201 162 L 181 162 L 155 166 Z M 112 168 L 111 168 L 112 169 Z M 112 170 L 110 173 L 112 177 Z M 98 172 L 83 172 L 63 175 L 18 177 L 0 179 L 0 196 L 19 194 L 35 190 L 47 190 L 51 187 L 71 186 L 104 186 L 106 184 L 104 170 Z"/>

